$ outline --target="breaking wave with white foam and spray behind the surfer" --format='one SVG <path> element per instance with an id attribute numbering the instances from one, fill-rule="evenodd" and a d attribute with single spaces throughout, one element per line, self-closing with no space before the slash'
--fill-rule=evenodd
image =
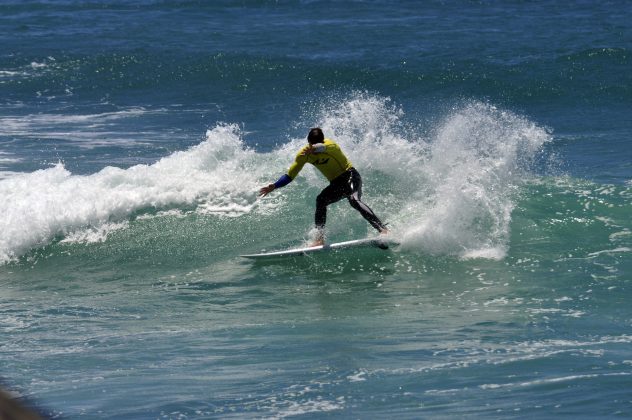
<path id="1" fill-rule="evenodd" d="M 608 219 L 610 241 L 590 252 L 630 247 L 630 227 L 619 214 L 629 188 L 539 177 L 534 166 L 553 135 L 524 116 L 467 101 L 424 126 L 407 120 L 403 108 L 389 98 L 354 92 L 330 97 L 301 118 L 298 125 L 321 126 L 345 150 L 363 176 L 365 201 L 390 223 L 404 252 L 500 260 L 515 239 L 512 230 L 524 234 L 521 239 L 556 238 L 573 224 L 603 226 L 603 218 Z M 126 229 L 126 221 L 171 211 L 182 217 L 254 214 L 264 225 L 278 225 L 279 217 L 292 219 L 301 225 L 282 224 L 275 238 L 267 237 L 267 230 L 257 233 L 257 225 L 245 230 L 267 246 L 279 238 L 286 244 L 288 235 L 300 239 L 311 228 L 314 199 L 325 185 L 322 177 L 308 166 L 292 184 L 265 199 L 257 199 L 257 190 L 286 171 L 304 137 L 262 152 L 248 148 L 242 136 L 236 125 L 220 124 L 200 144 L 151 165 L 106 167 L 79 176 L 57 164 L 0 179 L 0 210 L 6 215 L 0 261 L 52 241 L 104 241 L 112 229 Z M 565 203 L 568 217 L 540 213 L 559 208 L 558 200 Z M 331 214 L 331 237 L 370 230 L 349 206 L 336 205 Z M 578 221 L 582 217 L 587 221 Z M 587 258 L 604 260 L 610 254 Z"/>

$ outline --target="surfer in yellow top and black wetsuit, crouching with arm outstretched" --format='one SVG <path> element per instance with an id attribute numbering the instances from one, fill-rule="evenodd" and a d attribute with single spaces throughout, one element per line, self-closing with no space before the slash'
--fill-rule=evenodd
<path id="1" fill-rule="evenodd" d="M 331 139 L 326 139 L 320 128 L 312 128 L 307 135 L 307 146 L 299 150 L 294 162 L 287 173 L 275 183 L 259 190 L 259 195 L 265 197 L 277 188 L 292 182 L 303 169 L 305 163 L 314 165 L 328 180 L 329 185 L 316 197 L 316 238 L 311 246 L 323 245 L 325 242 L 325 222 L 327 221 L 327 206 L 347 198 L 349 204 L 360 212 L 380 233 L 388 233 L 386 225 L 364 204 L 362 196 L 362 178 L 353 167 L 340 146 Z"/>

